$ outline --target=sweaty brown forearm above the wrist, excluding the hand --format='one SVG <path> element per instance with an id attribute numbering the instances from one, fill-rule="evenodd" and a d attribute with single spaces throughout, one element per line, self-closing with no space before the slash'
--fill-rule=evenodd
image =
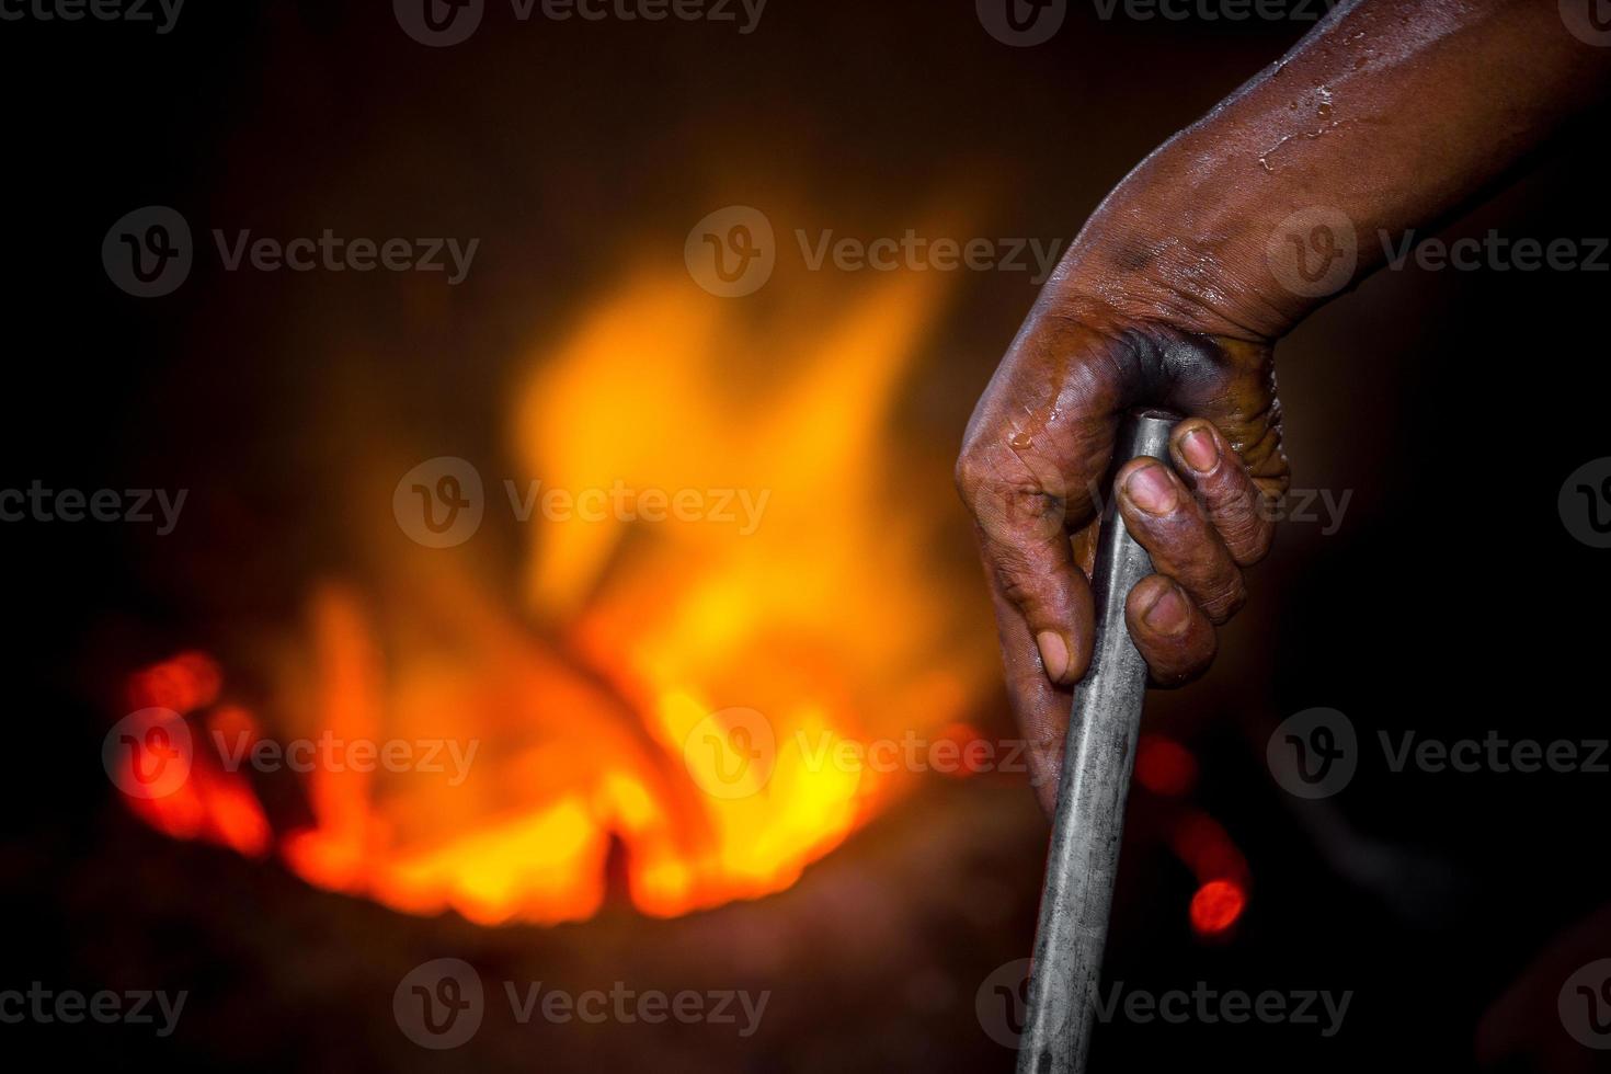
<path id="1" fill-rule="evenodd" d="M 1054 288 L 1213 335 L 1278 338 L 1382 262 L 1381 233 L 1471 200 L 1603 97 L 1608 77 L 1611 48 L 1574 37 L 1555 0 L 1342 3 L 1131 172 Z M 1334 238 L 1352 243 L 1356 271 L 1294 287 L 1282 258 L 1303 253 L 1290 246 L 1316 221 L 1352 229 Z"/>

